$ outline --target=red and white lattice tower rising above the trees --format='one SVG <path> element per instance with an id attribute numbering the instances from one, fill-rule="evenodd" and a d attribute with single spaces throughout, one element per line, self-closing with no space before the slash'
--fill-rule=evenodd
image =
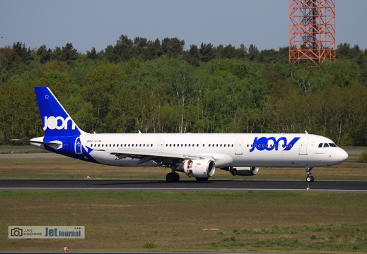
<path id="1" fill-rule="evenodd" d="M 335 0 L 289 0 L 289 61 L 335 61 Z"/>

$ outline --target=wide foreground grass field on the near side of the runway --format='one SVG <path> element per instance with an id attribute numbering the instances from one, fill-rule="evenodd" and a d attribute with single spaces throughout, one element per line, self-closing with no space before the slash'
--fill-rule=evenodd
<path id="1" fill-rule="evenodd" d="M 366 253 L 366 198 L 353 193 L 3 191 L 0 249 Z M 8 239 L 8 225 L 74 224 L 86 226 L 86 239 Z"/>

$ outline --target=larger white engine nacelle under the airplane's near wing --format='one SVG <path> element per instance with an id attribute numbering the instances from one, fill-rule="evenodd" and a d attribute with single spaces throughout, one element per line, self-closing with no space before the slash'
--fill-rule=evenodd
<path id="1" fill-rule="evenodd" d="M 189 177 L 208 178 L 214 175 L 216 164 L 213 159 L 188 159 L 182 164 Z"/>

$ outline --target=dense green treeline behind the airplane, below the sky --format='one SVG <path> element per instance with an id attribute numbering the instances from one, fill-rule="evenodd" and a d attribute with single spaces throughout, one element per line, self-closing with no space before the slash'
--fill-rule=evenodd
<path id="1" fill-rule="evenodd" d="M 86 54 L 65 47 L 0 49 L 0 143 L 43 135 L 34 86 L 52 89 L 79 127 L 120 133 L 315 133 L 367 145 L 367 52 L 340 44 L 337 61 L 288 63 L 259 51 L 122 35 Z"/>

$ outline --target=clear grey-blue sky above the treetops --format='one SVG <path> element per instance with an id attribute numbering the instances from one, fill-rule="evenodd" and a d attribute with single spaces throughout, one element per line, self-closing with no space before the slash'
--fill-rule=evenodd
<path id="1" fill-rule="evenodd" d="M 367 1 L 336 1 L 336 45 L 367 48 Z M 99 52 L 121 35 L 191 44 L 289 46 L 289 0 L 0 0 L 0 47 L 71 43 Z"/>

